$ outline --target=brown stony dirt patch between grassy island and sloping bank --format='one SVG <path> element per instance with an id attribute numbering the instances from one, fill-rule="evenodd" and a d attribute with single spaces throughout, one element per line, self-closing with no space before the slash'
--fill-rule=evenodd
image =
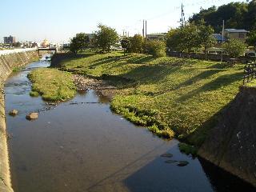
<path id="1" fill-rule="evenodd" d="M 87 78 L 80 74 L 73 75 L 74 84 L 78 91 L 97 90 L 100 94 L 111 100 L 116 94 L 117 88 L 110 86 L 110 83 L 105 80 Z"/>

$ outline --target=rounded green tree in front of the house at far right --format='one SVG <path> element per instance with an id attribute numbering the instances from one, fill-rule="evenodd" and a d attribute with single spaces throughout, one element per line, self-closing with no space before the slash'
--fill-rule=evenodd
<path id="1" fill-rule="evenodd" d="M 223 48 L 230 57 L 238 58 L 240 55 L 244 54 L 246 44 L 237 39 L 230 39 L 230 42 L 225 42 L 223 44 Z"/>

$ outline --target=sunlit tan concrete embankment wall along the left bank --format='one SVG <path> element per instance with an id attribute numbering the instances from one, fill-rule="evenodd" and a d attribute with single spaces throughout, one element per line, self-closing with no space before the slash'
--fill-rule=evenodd
<path id="1" fill-rule="evenodd" d="M 0 55 L 0 191 L 11 192 L 10 166 L 6 141 L 4 82 L 14 67 L 24 66 L 38 58 L 36 51 Z"/>

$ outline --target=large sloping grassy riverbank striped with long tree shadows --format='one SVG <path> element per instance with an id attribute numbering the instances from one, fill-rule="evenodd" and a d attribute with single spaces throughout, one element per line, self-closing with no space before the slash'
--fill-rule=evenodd
<path id="1" fill-rule="evenodd" d="M 62 70 L 104 78 L 118 87 L 111 107 L 131 122 L 200 146 L 242 84 L 242 65 L 145 54 L 84 54 Z"/>

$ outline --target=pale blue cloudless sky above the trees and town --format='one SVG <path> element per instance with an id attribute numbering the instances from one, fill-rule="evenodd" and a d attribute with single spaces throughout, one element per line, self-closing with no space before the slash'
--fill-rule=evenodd
<path id="1" fill-rule="evenodd" d="M 161 33 L 179 26 L 181 5 L 186 19 L 200 8 L 221 6 L 230 0 L 0 0 L 0 42 L 12 35 L 18 41 L 68 42 L 75 34 L 92 33 L 99 23 L 130 35 Z"/>

